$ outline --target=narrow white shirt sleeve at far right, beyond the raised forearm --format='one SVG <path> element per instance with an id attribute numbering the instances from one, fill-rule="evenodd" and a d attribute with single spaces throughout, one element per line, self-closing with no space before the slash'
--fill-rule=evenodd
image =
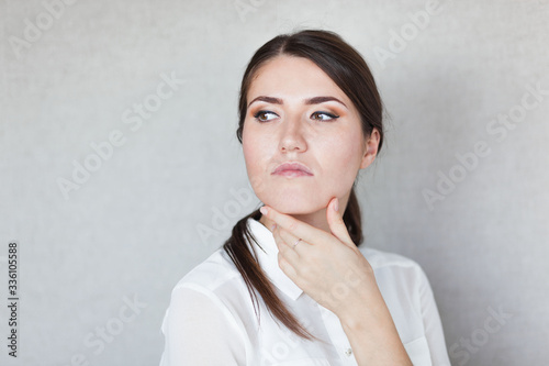
<path id="1" fill-rule="evenodd" d="M 430 358 L 434 366 L 450 366 L 448 352 L 446 350 L 442 322 L 438 313 L 435 297 L 429 285 L 429 280 L 423 268 L 419 268 L 419 301 L 422 307 L 422 318 L 425 328 L 425 337 L 429 346 Z"/>

